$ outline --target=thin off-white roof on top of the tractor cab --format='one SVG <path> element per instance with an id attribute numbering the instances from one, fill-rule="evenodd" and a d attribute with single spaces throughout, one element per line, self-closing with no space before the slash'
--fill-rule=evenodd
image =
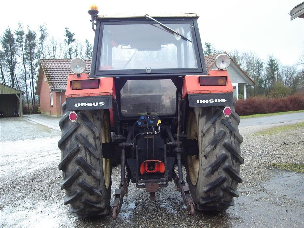
<path id="1" fill-rule="evenodd" d="M 196 13 L 133 13 L 132 15 L 129 13 L 116 13 L 116 14 L 100 14 L 97 15 L 97 19 L 102 18 L 145 18 L 146 15 L 149 15 L 151 17 L 196 17 L 199 18 L 199 16 Z"/>

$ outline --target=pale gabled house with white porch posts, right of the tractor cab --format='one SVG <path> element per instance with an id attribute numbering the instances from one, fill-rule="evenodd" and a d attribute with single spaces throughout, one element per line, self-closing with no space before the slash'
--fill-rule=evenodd
<path id="1" fill-rule="evenodd" d="M 205 56 L 207 70 L 217 69 L 215 65 L 215 58 L 219 54 L 220 53 Z M 227 53 L 225 52 L 225 54 Z M 239 91 L 240 89 L 243 89 L 244 100 L 246 100 L 247 98 L 246 88 L 255 85 L 255 82 L 232 58 L 231 58 L 230 66 L 227 67 L 226 70 L 228 71 L 233 86 L 233 97 L 238 100 Z"/>

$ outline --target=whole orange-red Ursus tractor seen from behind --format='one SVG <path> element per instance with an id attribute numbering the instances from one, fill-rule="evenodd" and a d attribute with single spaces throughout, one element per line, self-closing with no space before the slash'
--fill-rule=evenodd
<path id="1" fill-rule="evenodd" d="M 115 162 L 121 182 L 114 219 L 130 181 L 155 199 L 173 180 L 192 215 L 233 206 L 244 160 L 224 70 L 230 57 L 220 54 L 218 69 L 207 71 L 196 14 L 97 15 L 95 5 L 88 13 L 95 31 L 91 72 L 83 73 L 84 60 L 71 61 L 60 120 L 59 169 L 69 212 L 111 212 Z"/>

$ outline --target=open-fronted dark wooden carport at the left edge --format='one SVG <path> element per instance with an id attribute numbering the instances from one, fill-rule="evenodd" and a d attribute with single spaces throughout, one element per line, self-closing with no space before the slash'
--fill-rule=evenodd
<path id="1" fill-rule="evenodd" d="M 4 117 L 13 116 L 16 108 L 19 108 L 19 116 L 22 116 L 23 94 L 25 92 L 0 82 L 0 110 Z"/>

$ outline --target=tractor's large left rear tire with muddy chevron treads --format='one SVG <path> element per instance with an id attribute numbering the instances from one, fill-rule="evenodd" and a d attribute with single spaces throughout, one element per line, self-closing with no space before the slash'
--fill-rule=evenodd
<path id="1" fill-rule="evenodd" d="M 64 105 L 63 105 L 64 106 Z M 111 162 L 102 158 L 102 143 L 110 142 L 109 113 L 105 110 L 79 111 L 76 122 L 69 112 L 60 120 L 61 189 L 64 204 L 76 217 L 96 217 L 111 212 Z"/>

